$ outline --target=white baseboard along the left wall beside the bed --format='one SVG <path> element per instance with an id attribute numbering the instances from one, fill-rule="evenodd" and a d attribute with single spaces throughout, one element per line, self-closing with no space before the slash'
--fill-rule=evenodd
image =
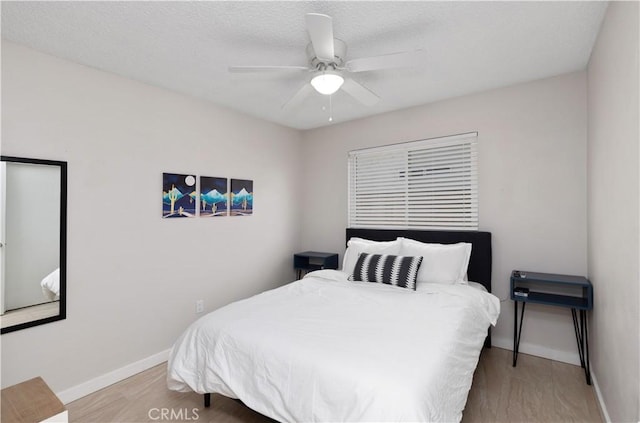
<path id="1" fill-rule="evenodd" d="M 169 358 L 169 351 L 170 350 L 161 351 L 147 358 L 143 358 L 142 360 L 127 364 L 124 367 L 103 374 L 64 391 L 56 392 L 56 395 L 63 404 L 68 404 L 71 401 L 85 397 L 99 391 L 100 389 L 106 388 L 109 385 L 113 385 L 116 382 L 120 382 L 123 379 L 150 369 L 153 366 L 157 366 L 163 361 L 167 361 Z"/>

